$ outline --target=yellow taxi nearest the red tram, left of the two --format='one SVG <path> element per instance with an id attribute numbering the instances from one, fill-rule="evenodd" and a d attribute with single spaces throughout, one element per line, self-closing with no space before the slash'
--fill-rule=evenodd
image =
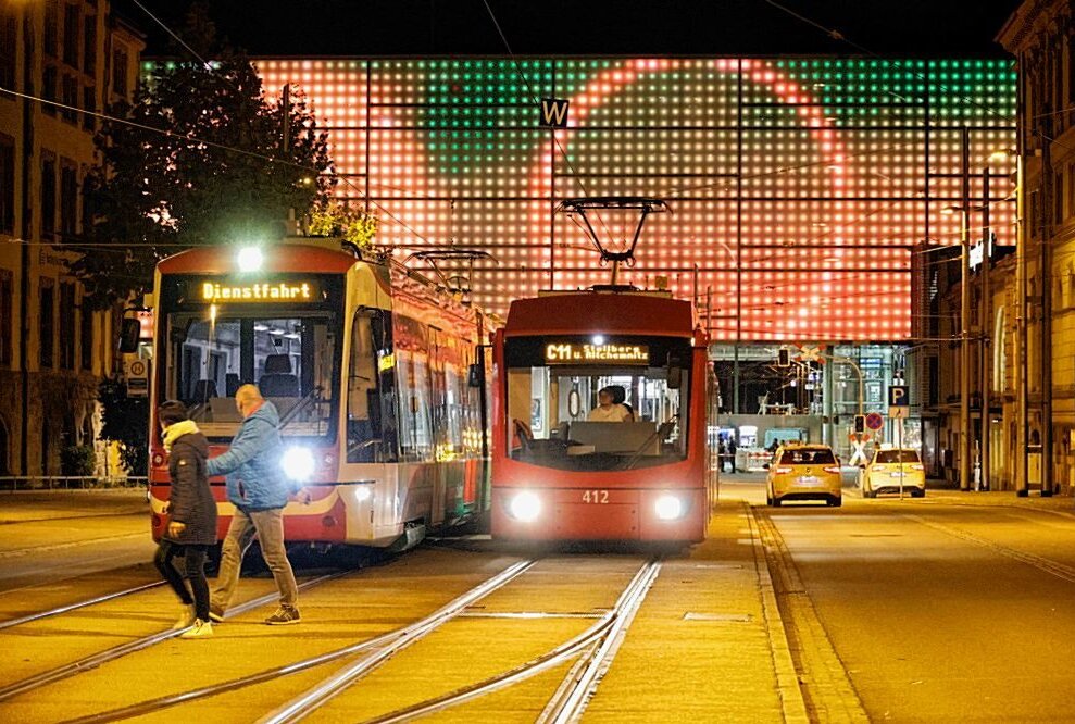
<path id="1" fill-rule="evenodd" d="M 770 505 L 785 500 L 824 500 L 836 508 L 843 503 L 840 463 L 827 445 L 786 442 L 765 467 L 765 502 Z"/>

